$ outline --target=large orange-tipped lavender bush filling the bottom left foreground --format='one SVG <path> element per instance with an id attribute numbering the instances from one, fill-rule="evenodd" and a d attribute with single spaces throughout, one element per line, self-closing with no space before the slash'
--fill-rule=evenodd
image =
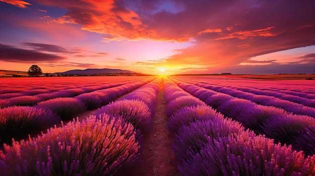
<path id="1" fill-rule="evenodd" d="M 137 164 L 133 126 L 119 117 L 90 116 L 0 150 L 0 175 L 121 175 Z"/>

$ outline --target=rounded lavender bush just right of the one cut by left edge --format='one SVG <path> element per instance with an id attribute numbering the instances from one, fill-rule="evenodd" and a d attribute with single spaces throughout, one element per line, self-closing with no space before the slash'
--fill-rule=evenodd
<path id="1" fill-rule="evenodd" d="M 75 98 L 55 98 L 42 101 L 38 103 L 37 107 L 50 109 L 60 115 L 61 120 L 72 119 L 76 114 L 86 110 L 84 103 Z"/>

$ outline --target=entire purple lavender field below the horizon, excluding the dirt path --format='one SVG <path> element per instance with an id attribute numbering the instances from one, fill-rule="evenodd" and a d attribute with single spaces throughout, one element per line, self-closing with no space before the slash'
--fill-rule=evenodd
<path id="1" fill-rule="evenodd" d="M 172 175 L 315 175 L 315 81 L 223 76 L 2 79 L 0 175 L 128 175 L 159 96 Z"/>

